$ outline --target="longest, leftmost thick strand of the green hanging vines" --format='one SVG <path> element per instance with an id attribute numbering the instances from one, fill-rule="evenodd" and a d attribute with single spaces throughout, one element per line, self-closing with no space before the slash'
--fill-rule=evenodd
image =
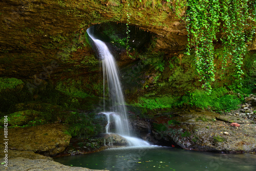
<path id="1" fill-rule="evenodd" d="M 215 80 L 213 41 L 220 26 L 220 4 L 215 0 L 188 0 L 187 6 L 188 46 L 195 48 L 197 72 L 204 82 L 202 87 L 211 92 L 210 83 Z"/>

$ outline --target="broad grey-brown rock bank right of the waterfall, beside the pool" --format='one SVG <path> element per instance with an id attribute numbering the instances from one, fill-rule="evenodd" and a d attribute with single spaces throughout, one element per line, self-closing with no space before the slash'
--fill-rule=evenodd
<path id="1" fill-rule="evenodd" d="M 152 120 L 152 124 L 156 125 L 153 126 L 152 134 L 160 142 L 164 142 L 165 145 L 169 144 L 171 146 L 174 144 L 185 149 L 225 153 L 244 153 L 256 150 L 254 130 L 256 124 L 251 120 L 243 120 L 239 116 L 225 116 L 210 112 L 180 112 L 174 114 L 176 114 L 175 117 L 155 116 Z M 196 118 L 206 118 L 206 116 L 216 117 L 217 120 L 191 122 Z M 178 122 L 176 124 L 168 124 L 170 119 Z M 232 119 L 242 122 L 243 126 L 230 126 L 229 121 Z M 235 125 L 238 126 L 240 124 L 236 123 Z M 245 134 L 246 137 L 244 136 Z"/>

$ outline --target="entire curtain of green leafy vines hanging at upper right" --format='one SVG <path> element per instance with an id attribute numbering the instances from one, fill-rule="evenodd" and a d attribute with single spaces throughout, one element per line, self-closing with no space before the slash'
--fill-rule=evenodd
<path id="1" fill-rule="evenodd" d="M 217 41 L 216 35 L 220 32 L 221 23 L 221 41 L 224 46 L 222 69 L 225 70 L 230 56 L 236 68 L 233 76 L 240 81 L 244 74 L 242 59 L 246 52 L 246 41 L 251 40 L 252 34 L 255 33 L 254 13 L 255 2 L 249 0 L 187 1 L 188 46 L 195 48 L 197 72 L 203 82 L 202 87 L 205 87 L 208 93 L 211 93 L 211 82 L 215 81 L 214 41 Z M 250 27 L 247 33 L 246 26 Z"/>

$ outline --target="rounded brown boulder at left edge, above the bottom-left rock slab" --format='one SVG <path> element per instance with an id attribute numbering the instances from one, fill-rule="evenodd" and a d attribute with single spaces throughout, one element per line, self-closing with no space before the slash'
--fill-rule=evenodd
<path id="1" fill-rule="evenodd" d="M 12 150 L 55 156 L 63 152 L 70 142 L 71 136 L 65 130 L 67 127 L 62 124 L 14 127 L 8 130 L 8 136 L 11 137 L 8 147 Z M 1 134 L 0 138 L 4 139 L 3 136 Z"/>

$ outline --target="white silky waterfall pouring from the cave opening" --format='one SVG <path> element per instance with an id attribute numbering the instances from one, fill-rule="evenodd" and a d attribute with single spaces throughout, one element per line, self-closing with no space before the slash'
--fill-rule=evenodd
<path id="1" fill-rule="evenodd" d="M 116 129 L 115 134 L 123 136 L 131 146 L 150 145 L 146 141 L 131 137 L 127 110 L 119 79 L 119 70 L 117 68 L 115 58 L 103 41 L 94 38 L 90 28 L 87 29 L 87 33 L 92 38 L 102 60 L 103 84 L 106 78 L 108 81 L 109 96 L 112 101 L 113 112 L 102 112 L 108 119 L 106 133 L 110 133 L 110 122 L 111 119 L 113 119 Z"/>

